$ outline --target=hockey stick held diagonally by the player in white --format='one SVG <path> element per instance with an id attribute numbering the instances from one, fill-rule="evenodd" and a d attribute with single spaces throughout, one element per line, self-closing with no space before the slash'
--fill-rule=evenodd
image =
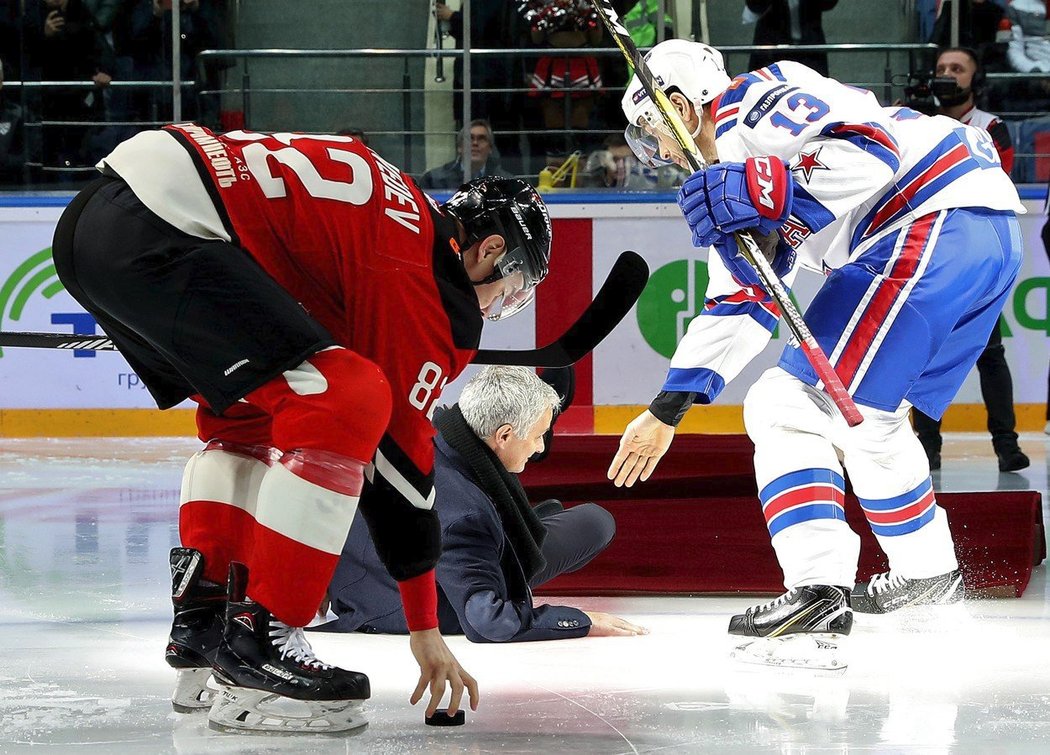
<path id="1" fill-rule="evenodd" d="M 652 71 L 646 65 L 645 59 L 638 53 L 637 45 L 634 44 L 630 33 L 624 27 L 610 0 L 590 0 L 590 3 L 602 18 L 602 22 L 606 28 L 609 29 L 609 34 L 612 36 L 616 46 L 620 47 L 620 51 L 624 54 L 628 64 L 634 67 L 634 72 L 637 74 L 638 81 L 642 82 L 646 93 L 659 109 L 664 123 L 671 129 L 671 133 L 674 134 L 674 139 L 678 143 L 678 146 L 681 147 L 690 167 L 694 171 L 707 168 L 707 163 L 704 161 L 704 156 L 700 154 L 696 143 L 693 142 L 693 138 L 686 129 L 686 124 L 681 122 L 681 118 L 678 116 L 677 110 L 674 109 L 671 101 L 668 100 L 667 95 L 664 93 L 664 90 L 656 85 Z M 810 332 L 808 326 L 802 319 L 802 314 L 788 295 L 783 284 L 780 282 L 777 274 L 773 272 L 773 267 L 765 258 L 765 255 L 759 251 L 754 239 L 749 234 L 734 233 L 733 236 L 740 255 L 755 268 L 762 287 L 769 292 L 777 307 L 780 308 L 780 312 L 783 313 L 784 319 L 788 321 L 788 329 L 799 342 L 799 347 L 810 360 L 810 364 L 813 365 L 817 377 L 824 383 L 824 391 L 831 396 L 835 405 L 839 407 L 839 411 L 850 427 L 860 424 L 863 421 L 863 417 L 857 408 L 857 404 L 854 403 L 845 385 L 842 384 L 842 380 L 839 379 L 832 363 L 827 360 L 824 352 L 821 351 L 817 339 L 813 337 L 813 333 Z"/>

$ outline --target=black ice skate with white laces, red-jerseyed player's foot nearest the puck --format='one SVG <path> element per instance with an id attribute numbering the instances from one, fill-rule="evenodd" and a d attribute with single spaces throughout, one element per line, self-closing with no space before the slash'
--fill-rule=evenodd
<path id="1" fill-rule="evenodd" d="M 317 659 L 298 627 L 245 595 L 248 569 L 230 565 L 226 631 L 214 658 L 214 729 L 344 732 L 366 723 L 369 677 Z"/>

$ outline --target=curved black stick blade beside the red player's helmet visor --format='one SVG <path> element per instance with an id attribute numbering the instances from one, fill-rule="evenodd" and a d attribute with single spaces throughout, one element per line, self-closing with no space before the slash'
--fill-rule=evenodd
<path id="1" fill-rule="evenodd" d="M 575 364 L 605 340 L 627 316 L 648 281 L 649 266 L 646 260 L 635 252 L 624 252 L 616 258 L 594 300 L 556 341 L 540 349 L 521 351 L 481 349 L 474 363 L 534 368 Z"/>

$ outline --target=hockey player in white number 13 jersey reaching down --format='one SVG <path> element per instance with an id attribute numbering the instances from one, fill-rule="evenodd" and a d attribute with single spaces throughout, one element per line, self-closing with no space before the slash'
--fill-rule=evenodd
<path id="1" fill-rule="evenodd" d="M 976 128 L 881 107 L 797 63 L 731 80 L 721 54 L 681 40 L 646 60 L 711 166 L 690 176 L 678 203 L 694 246 L 716 253 L 706 309 L 663 391 L 624 432 L 609 477 L 648 479 L 685 412 L 714 401 L 765 347 L 779 311 L 733 232 L 755 235 L 785 284 L 800 267 L 824 274 L 805 321 L 864 421 L 847 426 L 797 344 L 752 385 L 744 423 L 788 592 L 733 616 L 730 632 L 779 638 L 750 643 L 765 663 L 835 667 L 843 662 L 797 653 L 808 646 L 795 641 L 828 645 L 815 635 L 848 634 L 854 610 L 963 597 L 908 411 L 940 417 L 973 366 L 1021 266 L 1014 213 L 1024 209 Z M 637 77 L 623 108 L 639 158 L 686 165 Z M 861 584 L 843 467 L 889 559 L 887 573 Z"/>

